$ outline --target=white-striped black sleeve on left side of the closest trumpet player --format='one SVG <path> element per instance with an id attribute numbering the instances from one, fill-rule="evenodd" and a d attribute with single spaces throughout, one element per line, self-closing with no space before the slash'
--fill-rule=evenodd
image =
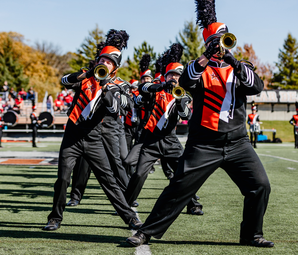
<path id="1" fill-rule="evenodd" d="M 205 69 L 206 66 L 201 66 L 197 60 L 191 61 L 191 63 L 187 64 L 186 68 L 181 74 L 181 77 L 179 78 L 179 85 L 186 91 L 195 91 L 197 89 L 196 85 Z"/>

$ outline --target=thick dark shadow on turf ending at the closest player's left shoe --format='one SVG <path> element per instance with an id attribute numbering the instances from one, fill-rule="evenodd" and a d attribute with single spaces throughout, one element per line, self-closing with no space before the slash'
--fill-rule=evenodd
<path id="1" fill-rule="evenodd" d="M 59 230 L 58 230 L 59 231 Z M 55 240 L 70 240 L 77 242 L 97 242 L 97 243 L 115 243 L 122 244 L 127 237 L 104 236 L 93 234 L 65 234 L 58 231 L 18 231 L 18 230 L 0 230 L 1 237 L 10 238 L 40 238 Z M 127 247 L 127 246 L 126 246 Z"/>

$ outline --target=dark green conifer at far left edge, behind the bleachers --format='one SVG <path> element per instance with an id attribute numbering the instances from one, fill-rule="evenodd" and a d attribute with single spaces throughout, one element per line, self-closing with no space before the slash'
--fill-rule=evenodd
<path id="1" fill-rule="evenodd" d="M 6 80 L 15 90 L 26 87 L 29 79 L 24 77 L 24 68 L 18 61 L 19 56 L 14 54 L 13 40 L 7 36 L 1 40 L 0 48 L 0 84 Z"/>

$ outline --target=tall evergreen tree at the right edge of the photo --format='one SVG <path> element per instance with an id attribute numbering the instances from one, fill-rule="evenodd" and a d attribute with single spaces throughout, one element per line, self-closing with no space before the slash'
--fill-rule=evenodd
<path id="1" fill-rule="evenodd" d="M 298 89 L 298 43 L 289 33 L 283 50 L 278 54 L 278 72 L 274 74 L 272 88 Z"/>

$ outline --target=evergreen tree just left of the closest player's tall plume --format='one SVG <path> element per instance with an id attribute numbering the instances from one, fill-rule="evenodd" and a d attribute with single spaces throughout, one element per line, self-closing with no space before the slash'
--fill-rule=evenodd
<path id="1" fill-rule="evenodd" d="M 177 43 L 183 47 L 183 55 L 181 64 L 185 66 L 189 61 L 200 57 L 205 51 L 204 40 L 201 36 L 200 28 L 193 21 L 186 22 L 184 29 L 179 32 L 179 38 L 176 38 Z"/>

